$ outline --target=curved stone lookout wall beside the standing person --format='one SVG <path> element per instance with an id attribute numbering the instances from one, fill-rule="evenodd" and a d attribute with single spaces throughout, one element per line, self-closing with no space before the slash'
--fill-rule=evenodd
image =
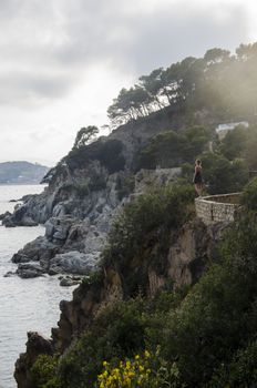
<path id="1" fill-rule="evenodd" d="M 240 193 L 202 196 L 195 200 L 197 217 L 206 225 L 233 222 L 239 208 Z"/>

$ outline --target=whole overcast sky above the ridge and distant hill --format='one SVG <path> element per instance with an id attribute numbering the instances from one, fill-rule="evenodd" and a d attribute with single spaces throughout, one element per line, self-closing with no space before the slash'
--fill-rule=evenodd
<path id="1" fill-rule="evenodd" d="M 0 162 L 54 165 L 122 88 L 257 41 L 256 20 L 256 0 L 0 0 Z"/>

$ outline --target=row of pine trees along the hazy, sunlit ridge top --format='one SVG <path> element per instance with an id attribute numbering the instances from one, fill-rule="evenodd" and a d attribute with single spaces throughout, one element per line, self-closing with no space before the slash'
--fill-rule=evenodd
<path id="1" fill-rule="evenodd" d="M 257 43 L 240 44 L 236 55 L 219 48 L 204 58 L 188 57 L 167 69 L 140 76 L 140 84 L 122 89 L 107 113 L 113 126 L 152 112 L 207 109 L 220 119 L 253 118 L 256 113 Z"/>

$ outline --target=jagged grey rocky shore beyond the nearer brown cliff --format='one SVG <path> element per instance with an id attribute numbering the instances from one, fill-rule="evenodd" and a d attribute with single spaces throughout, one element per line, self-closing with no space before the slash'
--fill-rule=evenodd
<path id="1" fill-rule="evenodd" d="M 18 264 L 14 274 L 22 278 L 48 275 L 88 276 L 97 268 L 101 252 L 113 216 L 127 201 L 147 191 L 165 185 L 179 175 L 179 169 L 140 171 L 133 176 L 133 191 L 121 197 L 121 188 L 131 176 L 124 172 L 107 174 L 97 163 L 91 165 L 105 182 L 105 187 L 81 195 L 78 186 L 89 171 L 76 171 L 72 185 L 66 181 L 49 186 L 40 195 L 27 196 L 24 204 L 13 214 L 3 217 L 3 225 L 33 226 L 44 222 L 44 236 L 35 238 L 16 253 L 12 262 Z M 6 276 L 12 276 L 8 273 Z M 73 285 L 66 277 L 61 285 Z"/>

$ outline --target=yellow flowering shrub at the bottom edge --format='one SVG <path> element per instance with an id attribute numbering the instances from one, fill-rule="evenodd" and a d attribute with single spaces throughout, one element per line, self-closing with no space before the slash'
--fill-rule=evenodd
<path id="1" fill-rule="evenodd" d="M 133 359 L 120 361 L 112 367 L 103 361 L 104 370 L 97 376 L 97 388 L 183 388 L 179 381 L 179 371 L 175 363 L 168 367 L 167 363 L 160 358 L 160 349 L 155 354 L 145 350 L 143 355 L 136 355 Z"/>

